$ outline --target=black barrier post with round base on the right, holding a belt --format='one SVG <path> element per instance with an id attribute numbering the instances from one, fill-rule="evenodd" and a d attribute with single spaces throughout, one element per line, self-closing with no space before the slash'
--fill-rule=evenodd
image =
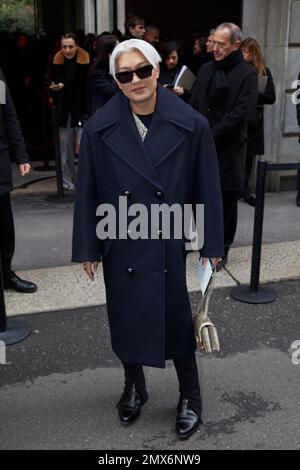
<path id="1" fill-rule="evenodd" d="M 277 299 L 273 289 L 259 286 L 267 172 L 268 162 L 258 161 L 250 289 L 249 286 L 237 286 L 231 291 L 235 300 L 249 304 L 268 304 Z"/>

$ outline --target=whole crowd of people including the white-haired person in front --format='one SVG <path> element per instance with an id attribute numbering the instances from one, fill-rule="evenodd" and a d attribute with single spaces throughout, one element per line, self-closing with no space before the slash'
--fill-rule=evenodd
<path id="1" fill-rule="evenodd" d="M 264 153 L 264 105 L 276 99 L 271 71 L 258 42 L 244 39 L 232 23 L 217 26 L 207 38 L 195 35 L 186 50 L 174 38 L 161 38 L 158 26 L 130 16 L 125 36 L 118 30 L 85 38 L 64 34 L 48 54 L 34 56 L 41 59 L 36 75 L 33 67 L 39 61 L 30 60 L 26 36 L 19 35 L 17 44 L 21 74 L 19 63 L 3 61 L 3 51 L 0 56 L 21 125 L 34 77 L 37 89 L 56 105 L 63 185 L 76 187 L 73 261 L 83 263 L 91 280 L 95 263 L 103 262 L 112 345 L 125 373 L 120 421 L 133 423 L 148 400 L 143 365 L 164 367 L 166 359 L 173 359 L 180 387 L 176 431 L 186 439 L 199 428 L 202 413 L 185 283 L 187 253 L 178 240 L 165 245 L 159 240 L 99 241 L 96 209 L 102 197 L 115 201 L 116 195 L 132 204 L 149 205 L 153 199 L 202 203 L 202 263 L 211 259 L 222 269 L 235 237 L 239 198 L 255 205 L 249 179 L 255 156 Z M 183 66 L 195 77 L 190 89 L 177 85 Z M 8 128 L 9 120 L 12 127 L 8 142 L 4 132 L 0 137 L 27 174 L 28 156 L 12 101 L 1 109 L 1 126 Z M 82 126 L 77 174 L 75 135 Z M 0 208 L 11 223 L 5 229 L 1 224 L 4 286 L 29 293 L 37 286 L 15 275 L 14 246 L 7 246 L 14 229 L 7 152 L 5 158 Z"/>

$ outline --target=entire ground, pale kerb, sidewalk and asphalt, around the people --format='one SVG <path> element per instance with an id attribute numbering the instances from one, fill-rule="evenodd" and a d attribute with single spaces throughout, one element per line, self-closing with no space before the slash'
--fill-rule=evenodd
<path id="1" fill-rule="evenodd" d="M 38 184 L 40 191 L 49 191 L 51 184 L 54 189 L 53 181 Z M 32 187 L 30 192 L 31 197 L 27 189 L 13 196 L 14 261 L 39 290 L 6 293 L 9 316 L 26 315 L 32 333 L 7 347 L 7 365 L 0 365 L 0 450 L 299 449 L 300 209 L 295 193 L 266 197 L 261 281 L 272 282 L 278 293 L 268 305 L 230 297 L 231 287 L 249 283 L 250 277 L 254 211 L 240 203 L 235 246 L 210 304 L 221 352 L 197 354 L 204 424 L 189 441 L 179 442 L 174 431 L 178 384 L 171 362 L 165 370 L 145 368 L 149 402 L 135 425 L 120 426 L 115 406 L 123 372 L 111 351 L 102 270 L 90 284 L 81 267 L 70 263 L 72 204 L 50 204 L 45 192 L 37 195 Z M 196 266 L 197 255 L 189 256 L 194 310 Z"/>

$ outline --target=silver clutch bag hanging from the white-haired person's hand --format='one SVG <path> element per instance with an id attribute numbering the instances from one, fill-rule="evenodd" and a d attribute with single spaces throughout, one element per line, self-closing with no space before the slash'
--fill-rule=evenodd
<path id="1" fill-rule="evenodd" d="M 197 313 L 194 316 L 194 328 L 197 346 L 202 352 L 212 353 L 220 351 L 220 341 L 217 329 L 208 317 L 208 306 L 213 290 L 213 276 L 205 295 L 202 295 L 198 305 Z"/>

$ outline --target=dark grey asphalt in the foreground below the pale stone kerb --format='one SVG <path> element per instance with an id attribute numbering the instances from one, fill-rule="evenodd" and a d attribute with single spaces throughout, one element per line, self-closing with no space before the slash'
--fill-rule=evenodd
<path id="1" fill-rule="evenodd" d="M 29 315 L 32 334 L 0 366 L 0 449 L 221 450 L 300 447 L 299 281 L 272 284 L 278 301 L 211 299 L 221 353 L 198 354 L 203 426 L 174 432 L 178 385 L 171 362 L 145 368 L 149 402 L 124 429 L 116 403 L 123 373 L 111 352 L 106 308 Z M 195 308 L 198 294 L 191 294 Z"/>

